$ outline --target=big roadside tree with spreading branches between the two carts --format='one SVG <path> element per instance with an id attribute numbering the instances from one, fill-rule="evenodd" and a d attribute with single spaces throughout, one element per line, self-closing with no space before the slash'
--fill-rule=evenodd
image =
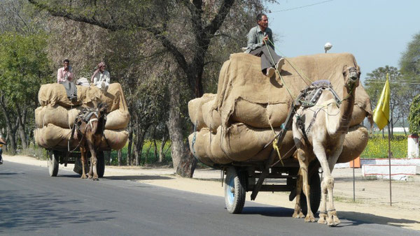
<path id="1" fill-rule="evenodd" d="M 241 45 L 246 43 L 244 36 L 250 25 L 242 23 L 236 24 L 234 28 L 223 27 L 227 17 L 235 23 L 235 19 L 241 20 L 249 15 L 253 15 L 253 19 L 255 13 L 263 8 L 262 1 L 28 1 L 56 17 L 92 24 L 108 31 L 141 35 L 142 39 L 147 40 L 137 40 L 138 45 L 151 43 L 146 47 L 155 47 L 155 53 L 165 54 L 165 59 L 175 65 L 169 69 L 173 78 L 168 82 L 170 96 L 167 122 L 172 140 L 174 170 L 179 175 L 191 177 L 195 159 L 184 142 L 183 132 L 186 128 L 183 127 L 185 118 L 181 111 L 190 98 L 200 97 L 204 93 L 205 66 L 213 62 L 211 54 L 208 54 L 211 43 L 221 38 L 229 39 L 232 35 L 241 35 Z M 151 61 L 160 68 L 162 57 Z M 183 84 L 189 88 L 189 94 L 183 94 L 179 89 Z"/>

